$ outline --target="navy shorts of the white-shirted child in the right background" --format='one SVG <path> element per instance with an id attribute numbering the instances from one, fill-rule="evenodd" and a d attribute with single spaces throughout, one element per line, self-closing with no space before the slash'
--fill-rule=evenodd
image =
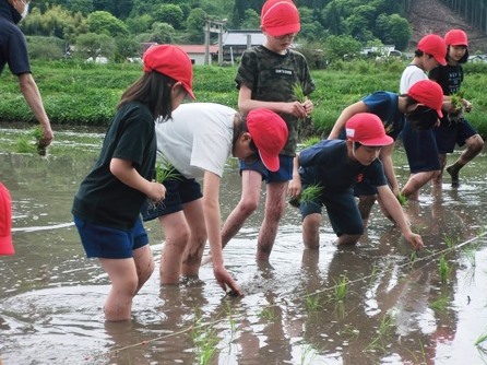
<path id="1" fill-rule="evenodd" d="M 416 129 L 406 121 L 402 139 L 412 174 L 441 169 L 432 129 Z"/>

